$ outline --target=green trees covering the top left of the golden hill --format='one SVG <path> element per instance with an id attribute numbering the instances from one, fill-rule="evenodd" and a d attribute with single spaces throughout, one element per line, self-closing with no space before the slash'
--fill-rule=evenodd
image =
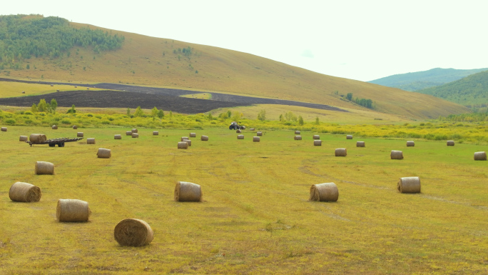
<path id="1" fill-rule="evenodd" d="M 40 15 L 0 16 L 0 69 L 22 69 L 22 61 L 32 56 L 70 56 L 73 46 L 101 51 L 120 49 L 124 36 L 99 29 L 75 29 L 68 20 Z"/>

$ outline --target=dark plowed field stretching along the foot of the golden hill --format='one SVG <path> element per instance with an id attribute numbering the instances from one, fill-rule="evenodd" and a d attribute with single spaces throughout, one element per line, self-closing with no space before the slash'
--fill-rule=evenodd
<path id="1" fill-rule="evenodd" d="M 153 88 L 144 86 L 131 86 L 126 84 L 73 84 L 61 82 L 39 82 L 21 81 L 14 79 L 0 79 L 0 81 L 16 81 L 28 84 L 59 84 L 71 86 L 83 86 L 98 89 L 111 89 L 118 91 L 60 91 L 43 96 L 21 96 L 9 99 L 0 99 L 0 105 L 7 106 L 32 106 L 39 103 L 40 99 L 56 99 L 59 106 L 70 107 L 72 104 L 78 107 L 96 108 L 136 108 L 141 106 L 143 109 L 158 109 L 176 111 L 183 114 L 197 114 L 218 108 L 235 106 L 249 106 L 253 104 L 278 104 L 303 106 L 312 109 L 345 111 L 336 107 L 313 104 L 300 101 L 290 101 L 282 99 L 262 99 L 252 96 L 234 96 L 230 94 L 211 93 L 212 99 L 190 99 L 180 97 L 185 94 L 200 94 L 199 91 L 188 91 L 180 89 Z"/>

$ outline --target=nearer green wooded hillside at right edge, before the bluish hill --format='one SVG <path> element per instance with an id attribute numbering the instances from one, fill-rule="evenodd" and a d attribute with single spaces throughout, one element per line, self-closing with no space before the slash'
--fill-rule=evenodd
<path id="1" fill-rule="evenodd" d="M 418 91 L 464 106 L 486 107 L 488 104 L 488 71 L 472 74 L 442 86 Z"/>

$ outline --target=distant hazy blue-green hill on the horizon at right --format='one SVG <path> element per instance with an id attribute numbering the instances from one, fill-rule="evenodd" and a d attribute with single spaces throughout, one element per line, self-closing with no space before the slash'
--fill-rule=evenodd
<path id="1" fill-rule="evenodd" d="M 405 91 L 418 91 L 433 86 L 440 86 L 486 70 L 488 68 L 471 70 L 435 68 L 428 71 L 417 71 L 415 73 L 395 74 L 368 82 Z"/>

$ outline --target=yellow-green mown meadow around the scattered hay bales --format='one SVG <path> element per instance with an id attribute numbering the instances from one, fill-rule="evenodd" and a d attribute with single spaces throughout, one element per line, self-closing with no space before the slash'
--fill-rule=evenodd
<path id="1" fill-rule="evenodd" d="M 253 125 L 249 125 L 252 127 Z M 406 139 L 345 139 L 315 131 L 255 131 L 244 140 L 223 128 L 139 129 L 9 126 L 0 132 L 1 274 L 486 274 L 486 144 Z M 85 139 L 65 147 L 33 146 L 20 135 Z M 197 134 L 187 150 L 181 136 Z M 122 134 L 114 140 L 114 134 Z M 200 141 L 200 135 L 209 141 Z M 95 138 L 95 145 L 86 138 Z M 365 148 L 355 142 L 366 142 Z M 112 150 L 97 159 L 97 149 Z M 346 157 L 334 150 L 347 148 Z M 401 150 L 405 159 L 391 160 Z M 35 175 L 35 161 L 56 174 Z M 420 176 L 421 194 L 399 194 L 397 181 Z M 41 201 L 16 203 L 16 181 L 39 186 Z M 201 203 L 173 201 L 177 181 L 200 184 Z M 308 201 L 312 184 L 335 182 L 335 203 Z M 88 201 L 86 223 L 56 221 L 58 199 Z M 148 246 L 119 246 L 113 229 L 143 219 Z"/>

